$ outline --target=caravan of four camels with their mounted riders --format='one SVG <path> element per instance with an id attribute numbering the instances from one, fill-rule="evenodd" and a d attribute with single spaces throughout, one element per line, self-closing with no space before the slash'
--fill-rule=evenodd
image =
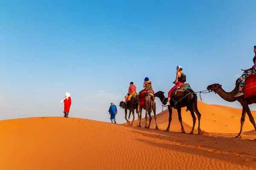
<path id="1" fill-rule="evenodd" d="M 256 130 L 256 124 L 253 118 L 253 115 L 250 111 L 248 105 L 256 103 L 256 46 L 253 48 L 255 56 L 253 57 L 253 67 L 248 68 L 244 71 L 244 73 L 236 80 L 235 88 L 231 92 L 226 92 L 222 89 L 220 84 L 212 84 L 208 85 L 207 93 L 215 92 L 217 93 L 222 99 L 228 102 L 235 102 L 238 101 L 242 106 L 242 115 L 241 115 L 241 127 L 240 132 L 236 138 L 242 138 L 242 129 L 244 125 L 245 115 L 249 116 L 250 122 L 253 124 Z M 202 133 L 200 127 L 201 121 L 201 113 L 198 111 L 197 105 L 197 93 L 202 93 L 204 91 L 195 92 L 190 87 L 189 83 L 186 82 L 186 75 L 183 74 L 183 68 L 181 66 L 177 66 L 177 74 L 176 79 L 173 82 L 175 85 L 174 87 L 168 92 L 168 97 L 164 96 L 163 91 L 158 91 L 154 93 L 152 88 L 152 83 L 149 81 L 148 77 L 144 79 L 143 90 L 137 94 L 136 86 L 133 85 L 133 82 L 130 83 L 129 92 L 125 96 L 125 102 L 120 102 L 119 106 L 125 109 L 125 120 L 127 121 L 128 125 L 133 125 L 135 116 L 134 111 L 138 114 L 138 123 L 137 126 L 141 127 L 141 113 L 144 109 L 145 114 L 145 128 L 150 127 L 151 123 L 151 112 L 153 110 L 154 119 L 155 119 L 155 129 L 158 130 L 157 127 L 157 116 L 156 116 L 156 102 L 155 97 L 158 97 L 163 106 L 168 107 L 169 111 L 169 124 L 165 131 L 169 131 L 170 124 L 172 121 L 172 108 L 176 109 L 178 112 L 178 119 L 181 125 L 181 133 L 186 133 L 184 127 L 182 125 L 182 117 L 181 117 L 181 108 L 186 107 L 186 111 L 190 111 L 191 116 L 193 118 L 193 126 L 192 130 L 189 134 L 194 133 L 196 117 L 198 117 L 198 134 Z M 127 111 L 129 110 L 129 116 L 127 119 Z M 133 120 L 130 122 L 131 113 L 133 115 Z M 147 117 L 149 116 L 149 122 L 147 125 Z M 256 139 L 255 139 L 256 140 Z"/>

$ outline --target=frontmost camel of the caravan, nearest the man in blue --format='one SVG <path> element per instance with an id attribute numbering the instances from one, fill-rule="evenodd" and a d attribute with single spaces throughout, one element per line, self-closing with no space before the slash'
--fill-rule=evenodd
<path id="1" fill-rule="evenodd" d="M 134 110 L 136 110 L 136 113 L 138 114 L 138 117 L 139 117 L 139 113 L 138 113 L 138 111 L 139 111 L 138 110 L 139 103 L 136 102 L 136 100 L 135 100 L 136 96 L 138 96 L 138 95 L 134 94 L 132 99 L 127 101 L 126 104 L 123 101 L 119 103 L 120 108 L 125 109 L 125 120 L 127 121 L 127 124 L 131 125 L 131 126 L 133 125 L 133 122 L 134 122 L 134 119 L 135 119 Z M 127 110 L 129 110 L 128 120 L 127 120 Z M 131 113 L 132 113 L 132 116 L 133 116 L 132 122 L 130 122 Z"/>

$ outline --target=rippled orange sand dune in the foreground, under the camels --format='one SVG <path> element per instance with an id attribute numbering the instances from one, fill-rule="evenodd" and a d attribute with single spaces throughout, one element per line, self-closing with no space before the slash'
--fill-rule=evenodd
<path id="1" fill-rule="evenodd" d="M 0 139 L 1 170 L 256 167 L 256 142 L 230 134 L 189 135 L 87 119 L 36 117 L 0 121 Z"/>

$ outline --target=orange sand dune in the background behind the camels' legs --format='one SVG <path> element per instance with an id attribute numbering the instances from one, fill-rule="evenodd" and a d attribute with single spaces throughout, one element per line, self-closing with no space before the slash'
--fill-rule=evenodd
<path id="1" fill-rule="evenodd" d="M 164 107 L 166 109 L 166 107 Z M 198 110 L 201 113 L 201 129 L 211 133 L 239 133 L 240 131 L 240 119 L 241 119 L 241 109 L 231 108 L 221 105 L 208 105 L 204 102 L 198 101 Z M 256 111 L 251 111 L 253 116 L 256 117 Z M 145 110 L 143 110 L 143 115 L 145 116 Z M 150 128 L 155 127 L 154 114 L 152 115 L 152 121 Z M 186 132 L 190 132 L 193 125 L 192 116 L 189 111 L 186 112 L 186 108 L 182 108 L 181 116 L 183 121 L 183 126 Z M 195 115 L 196 116 L 196 115 Z M 197 118 L 197 116 L 196 116 Z M 132 116 L 131 116 L 132 120 Z M 130 121 L 131 121 L 130 120 Z M 166 129 L 169 121 L 169 111 L 164 110 L 157 114 L 157 125 L 160 129 Z M 127 125 L 127 123 L 123 123 Z M 137 120 L 134 121 L 134 126 L 137 125 Z M 145 126 L 145 118 L 141 119 L 141 126 Z M 195 124 L 195 133 L 197 133 L 198 118 Z M 170 130 L 181 131 L 180 122 L 178 120 L 178 114 L 176 109 L 172 109 L 172 122 Z M 243 131 L 254 130 L 249 117 L 246 116 L 244 122 Z"/>

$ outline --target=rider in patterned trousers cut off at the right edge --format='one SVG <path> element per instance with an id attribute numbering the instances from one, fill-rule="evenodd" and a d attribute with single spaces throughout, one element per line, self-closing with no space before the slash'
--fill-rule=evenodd
<path id="1" fill-rule="evenodd" d="M 254 74 L 256 73 L 256 45 L 254 46 L 254 49 L 253 49 L 254 53 L 255 53 L 255 56 L 253 57 L 253 67 L 252 68 L 248 68 L 246 70 L 244 70 L 244 73 L 241 75 L 241 77 L 239 77 L 239 89 L 238 89 L 238 92 L 237 94 L 235 94 L 234 97 L 238 97 L 238 96 L 242 96 L 244 95 L 244 93 L 242 92 L 243 91 L 243 88 L 244 88 L 244 84 L 245 84 L 245 79 L 250 76 L 251 74 Z"/>

